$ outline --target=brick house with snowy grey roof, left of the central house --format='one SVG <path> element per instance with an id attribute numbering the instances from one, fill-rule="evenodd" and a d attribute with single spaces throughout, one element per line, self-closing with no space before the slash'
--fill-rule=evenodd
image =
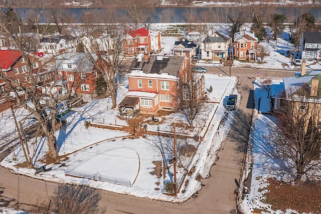
<path id="1" fill-rule="evenodd" d="M 72 95 L 77 95 L 88 102 L 95 97 L 95 84 L 97 70 L 91 59 L 97 60 L 96 54 L 64 53 L 59 55 L 53 65 L 55 74 L 55 87 L 60 95 L 65 95 L 71 90 Z"/>

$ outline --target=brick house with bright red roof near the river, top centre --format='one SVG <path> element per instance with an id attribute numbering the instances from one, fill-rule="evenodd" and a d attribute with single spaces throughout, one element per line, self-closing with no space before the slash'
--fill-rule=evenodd
<path id="1" fill-rule="evenodd" d="M 123 45 L 127 55 L 158 52 L 161 50 L 161 33 L 149 32 L 145 28 L 130 30 L 123 39 Z"/>

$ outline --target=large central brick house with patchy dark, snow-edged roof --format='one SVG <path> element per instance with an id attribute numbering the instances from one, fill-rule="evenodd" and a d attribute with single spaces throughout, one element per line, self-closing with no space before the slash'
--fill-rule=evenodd
<path id="1" fill-rule="evenodd" d="M 120 114 L 140 111 L 154 114 L 158 110 L 177 111 L 182 85 L 190 71 L 185 56 L 138 55 L 128 77 L 128 91 L 119 103 Z M 185 81 L 184 81 L 185 80 Z"/>

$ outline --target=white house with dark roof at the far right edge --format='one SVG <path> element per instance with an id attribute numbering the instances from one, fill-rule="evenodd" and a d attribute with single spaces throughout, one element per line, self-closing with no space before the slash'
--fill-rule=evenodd
<path id="1" fill-rule="evenodd" d="M 321 32 L 303 32 L 300 56 L 302 60 L 321 59 Z"/>

